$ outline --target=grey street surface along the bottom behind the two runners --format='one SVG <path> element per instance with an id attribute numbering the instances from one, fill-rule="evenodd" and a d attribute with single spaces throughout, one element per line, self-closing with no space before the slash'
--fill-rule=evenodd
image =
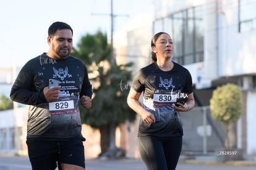
<path id="1" fill-rule="evenodd" d="M 26 156 L 0 156 L 0 170 L 31 170 L 30 162 Z M 86 170 L 145 170 L 140 159 L 100 160 L 87 159 Z M 256 166 L 234 166 L 226 164 L 207 163 L 179 163 L 176 170 L 252 170 Z"/>

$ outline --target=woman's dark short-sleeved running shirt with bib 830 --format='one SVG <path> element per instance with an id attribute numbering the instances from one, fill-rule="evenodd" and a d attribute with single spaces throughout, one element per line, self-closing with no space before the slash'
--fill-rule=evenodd
<path id="1" fill-rule="evenodd" d="M 193 92 L 189 71 L 174 63 L 173 69 L 161 70 L 154 62 L 140 69 L 135 75 L 132 88 L 143 92 L 143 108 L 154 114 L 155 123 L 145 124 L 140 119 L 138 135 L 172 137 L 183 135 L 181 117 L 172 104 L 177 98 L 187 98 Z"/>

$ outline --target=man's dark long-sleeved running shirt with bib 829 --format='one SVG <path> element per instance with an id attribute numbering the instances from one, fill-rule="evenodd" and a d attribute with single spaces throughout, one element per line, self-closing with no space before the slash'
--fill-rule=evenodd
<path id="1" fill-rule="evenodd" d="M 47 103 L 43 88 L 49 79 L 59 81 L 59 100 Z M 69 56 L 67 59 L 52 59 L 41 54 L 28 61 L 20 70 L 11 90 L 11 98 L 28 104 L 27 138 L 64 140 L 82 137 L 79 99 L 92 96 L 83 62 Z"/>

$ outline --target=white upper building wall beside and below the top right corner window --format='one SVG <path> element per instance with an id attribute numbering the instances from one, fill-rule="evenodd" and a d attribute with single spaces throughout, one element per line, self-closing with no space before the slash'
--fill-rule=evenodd
<path id="1" fill-rule="evenodd" d="M 239 1 L 222 1 L 218 14 L 220 77 L 256 72 L 256 31 L 239 33 Z"/>

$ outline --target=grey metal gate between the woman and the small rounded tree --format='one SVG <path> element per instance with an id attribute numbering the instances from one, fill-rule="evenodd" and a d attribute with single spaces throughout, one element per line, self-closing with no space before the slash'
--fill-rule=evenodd
<path id="1" fill-rule="evenodd" d="M 202 106 L 181 113 L 184 129 L 182 152 L 207 154 L 224 146 L 224 125 L 211 117 L 210 107 Z"/>

